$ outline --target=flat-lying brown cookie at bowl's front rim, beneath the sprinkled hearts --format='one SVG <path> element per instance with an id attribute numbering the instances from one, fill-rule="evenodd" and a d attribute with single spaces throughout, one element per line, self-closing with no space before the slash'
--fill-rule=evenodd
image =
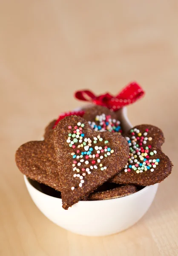
<path id="1" fill-rule="evenodd" d="M 120 198 L 126 195 L 131 195 L 137 192 L 136 186 L 126 185 L 119 186 L 115 189 L 110 189 L 101 192 L 93 192 L 88 196 L 88 201 L 107 200 L 113 198 Z"/>

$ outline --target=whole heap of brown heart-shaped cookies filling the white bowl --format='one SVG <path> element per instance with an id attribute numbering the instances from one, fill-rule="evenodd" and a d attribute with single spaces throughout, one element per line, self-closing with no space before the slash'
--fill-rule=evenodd
<path id="1" fill-rule="evenodd" d="M 119 198 L 164 180 L 172 163 L 163 143 L 159 128 L 123 131 L 117 112 L 93 106 L 52 121 L 43 141 L 20 146 L 16 163 L 30 179 L 61 192 L 68 209 L 80 200 Z"/>

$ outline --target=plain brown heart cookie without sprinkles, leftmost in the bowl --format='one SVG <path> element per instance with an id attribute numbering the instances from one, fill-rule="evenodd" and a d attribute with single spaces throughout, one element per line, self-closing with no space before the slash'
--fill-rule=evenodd
<path id="1" fill-rule="evenodd" d="M 21 145 L 15 159 L 24 175 L 60 191 L 56 154 L 50 135 L 43 141 L 30 141 Z"/>

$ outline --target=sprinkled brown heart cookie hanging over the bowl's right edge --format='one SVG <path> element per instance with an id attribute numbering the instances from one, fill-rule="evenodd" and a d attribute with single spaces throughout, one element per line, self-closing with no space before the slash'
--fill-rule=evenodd
<path id="1" fill-rule="evenodd" d="M 172 163 L 162 151 L 163 132 L 152 125 L 138 125 L 125 136 L 130 153 L 124 169 L 111 179 L 118 184 L 149 186 L 163 181 Z"/>

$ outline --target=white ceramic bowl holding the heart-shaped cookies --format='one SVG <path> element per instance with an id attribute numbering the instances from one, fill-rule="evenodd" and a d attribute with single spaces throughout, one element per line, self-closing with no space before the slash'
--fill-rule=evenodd
<path id="1" fill-rule="evenodd" d="M 120 111 L 123 130 L 132 128 L 126 108 Z M 35 188 L 24 176 L 34 204 L 49 220 L 73 233 L 85 236 L 106 236 L 121 232 L 135 224 L 149 209 L 158 184 L 146 186 L 135 194 L 103 201 L 79 201 L 68 210 L 62 200 L 46 195 Z"/>

